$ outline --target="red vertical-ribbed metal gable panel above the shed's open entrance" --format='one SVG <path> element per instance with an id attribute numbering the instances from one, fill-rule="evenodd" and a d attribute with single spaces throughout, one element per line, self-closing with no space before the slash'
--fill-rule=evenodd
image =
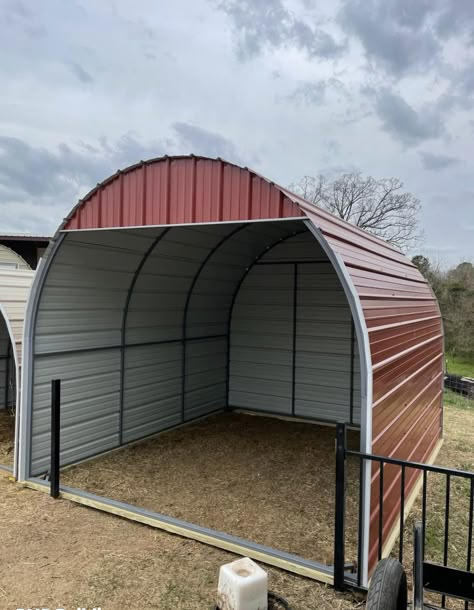
<path id="1" fill-rule="evenodd" d="M 303 213 L 289 197 L 246 169 L 215 159 L 164 157 L 127 168 L 103 182 L 73 210 L 63 228 L 298 216 Z"/>

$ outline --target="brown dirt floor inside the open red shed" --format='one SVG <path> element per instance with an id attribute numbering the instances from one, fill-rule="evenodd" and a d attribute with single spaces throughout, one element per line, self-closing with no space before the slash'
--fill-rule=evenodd
<path id="1" fill-rule="evenodd" d="M 332 564 L 334 437 L 333 427 L 219 414 L 67 469 L 62 484 Z M 348 478 L 355 518 L 358 471 Z"/>

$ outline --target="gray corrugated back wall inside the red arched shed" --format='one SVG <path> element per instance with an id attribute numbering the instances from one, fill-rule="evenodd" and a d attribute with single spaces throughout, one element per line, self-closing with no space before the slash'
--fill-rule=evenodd
<path id="1" fill-rule="evenodd" d="M 242 283 L 232 315 L 229 402 L 360 423 L 350 308 L 334 268 L 310 233 L 273 248 Z"/>

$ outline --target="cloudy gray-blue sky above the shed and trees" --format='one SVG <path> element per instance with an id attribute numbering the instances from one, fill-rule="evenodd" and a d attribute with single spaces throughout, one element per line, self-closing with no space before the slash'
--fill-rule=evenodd
<path id="1" fill-rule="evenodd" d="M 473 0 L 0 0 L 0 232 L 161 154 L 396 176 L 474 258 Z"/>

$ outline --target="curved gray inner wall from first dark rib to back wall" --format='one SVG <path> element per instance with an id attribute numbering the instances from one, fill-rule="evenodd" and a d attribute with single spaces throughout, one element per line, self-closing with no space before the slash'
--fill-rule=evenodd
<path id="1" fill-rule="evenodd" d="M 196 339 L 226 335 L 229 308 L 242 273 L 267 244 L 287 235 L 291 226 L 179 227 L 157 244 L 130 299 L 124 442 L 224 408 L 227 337 Z M 150 341 L 177 343 L 130 347 Z"/>

